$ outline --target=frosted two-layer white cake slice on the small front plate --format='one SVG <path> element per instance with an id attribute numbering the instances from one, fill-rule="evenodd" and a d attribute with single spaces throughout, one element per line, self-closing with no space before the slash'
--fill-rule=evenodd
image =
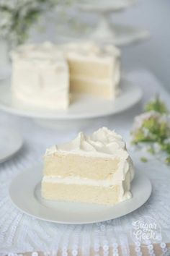
<path id="1" fill-rule="evenodd" d="M 45 153 L 42 197 L 114 205 L 132 197 L 133 162 L 120 135 L 103 127 Z"/>

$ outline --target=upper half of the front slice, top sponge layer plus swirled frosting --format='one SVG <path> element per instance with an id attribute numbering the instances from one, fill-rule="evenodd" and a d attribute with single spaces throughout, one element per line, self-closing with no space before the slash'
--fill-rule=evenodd
<path id="1" fill-rule="evenodd" d="M 122 137 L 107 128 L 91 136 L 82 132 L 76 139 L 60 146 L 53 146 L 45 153 L 46 176 L 80 176 L 87 179 L 125 179 L 133 164 Z"/>

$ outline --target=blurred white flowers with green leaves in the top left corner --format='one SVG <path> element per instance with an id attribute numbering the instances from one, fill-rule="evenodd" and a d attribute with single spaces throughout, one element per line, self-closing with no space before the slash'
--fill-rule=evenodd
<path id="1" fill-rule="evenodd" d="M 70 4 L 70 1 L 61 2 Z M 60 0 L 0 0 L 0 38 L 8 40 L 12 46 L 24 43 L 30 27 L 40 15 L 53 9 L 59 2 Z"/>

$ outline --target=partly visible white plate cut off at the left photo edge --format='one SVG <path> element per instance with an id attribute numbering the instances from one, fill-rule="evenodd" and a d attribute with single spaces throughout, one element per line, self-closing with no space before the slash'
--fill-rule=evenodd
<path id="1" fill-rule="evenodd" d="M 22 137 L 8 127 L 0 127 L 0 163 L 11 158 L 22 148 Z"/>

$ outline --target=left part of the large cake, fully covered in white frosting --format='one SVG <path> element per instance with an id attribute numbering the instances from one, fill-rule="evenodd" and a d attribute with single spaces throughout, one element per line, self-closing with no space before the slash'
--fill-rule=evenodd
<path id="1" fill-rule="evenodd" d="M 69 104 L 69 72 L 63 53 L 51 43 L 12 52 L 12 93 L 31 106 L 60 109 Z"/>

